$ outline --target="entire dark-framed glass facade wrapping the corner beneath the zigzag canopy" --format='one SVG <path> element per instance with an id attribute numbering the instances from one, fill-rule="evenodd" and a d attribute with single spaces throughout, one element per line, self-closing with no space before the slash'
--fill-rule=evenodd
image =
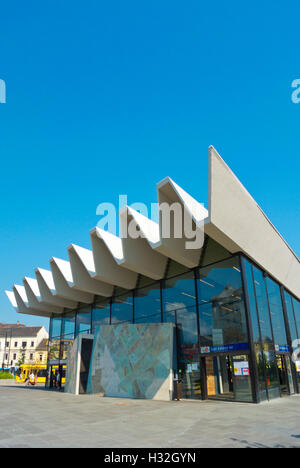
<path id="1" fill-rule="evenodd" d="M 300 362 L 291 361 L 291 340 L 299 338 L 299 301 L 212 239 L 197 268 L 169 260 L 160 281 L 140 276 L 134 290 L 115 288 L 111 298 L 95 296 L 92 305 L 53 317 L 50 364 L 65 364 L 79 333 L 161 322 L 175 325 L 173 372 L 184 398 L 259 402 L 298 391 Z"/>

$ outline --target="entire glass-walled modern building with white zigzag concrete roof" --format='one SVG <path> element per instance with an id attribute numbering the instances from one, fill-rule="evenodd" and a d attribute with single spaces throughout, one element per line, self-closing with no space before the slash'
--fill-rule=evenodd
<path id="1" fill-rule="evenodd" d="M 299 393 L 299 258 L 213 147 L 208 210 L 170 178 L 157 195 L 204 231 L 199 248 L 127 207 L 120 224 L 137 238 L 96 227 L 92 250 L 72 244 L 68 261 L 51 258 L 7 292 L 20 313 L 50 317 L 49 367 L 70 349 L 67 384 L 79 375 L 82 392 L 111 396 L 157 398 L 165 386 L 172 398 L 174 376 L 183 398 Z"/>

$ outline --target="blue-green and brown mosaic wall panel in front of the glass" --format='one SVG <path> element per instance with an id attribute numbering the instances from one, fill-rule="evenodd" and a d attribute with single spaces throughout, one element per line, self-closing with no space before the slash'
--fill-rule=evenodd
<path id="1" fill-rule="evenodd" d="M 170 399 L 174 325 L 119 324 L 96 329 L 88 393 Z"/>

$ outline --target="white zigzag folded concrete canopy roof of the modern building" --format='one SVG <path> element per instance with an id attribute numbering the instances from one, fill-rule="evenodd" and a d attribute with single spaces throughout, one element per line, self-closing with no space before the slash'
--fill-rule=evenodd
<path id="1" fill-rule="evenodd" d="M 259 205 L 217 151 L 209 148 L 209 206 L 206 210 L 169 177 L 157 184 L 158 206 L 179 203 L 194 231 L 205 233 L 231 253 L 250 257 L 300 299 L 300 261 Z M 111 297 L 114 287 L 134 289 L 138 275 L 164 277 L 168 259 L 188 268 L 199 265 L 202 245 L 187 248 L 185 236 L 165 237 L 162 217 L 155 223 L 127 206 L 119 213 L 121 233 L 133 226 L 137 238 L 90 231 L 91 250 L 71 244 L 69 261 L 51 258 L 50 270 L 37 268 L 35 278 L 6 291 L 12 306 L 23 314 L 52 316 L 91 304 L 94 296 Z M 172 218 L 170 218 L 172 223 Z"/>

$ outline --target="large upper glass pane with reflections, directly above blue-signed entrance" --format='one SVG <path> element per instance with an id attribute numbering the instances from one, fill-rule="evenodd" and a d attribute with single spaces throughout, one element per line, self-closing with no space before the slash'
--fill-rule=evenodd
<path id="1" fill-rule="evenodd" d="M 201 346 L 248 345 L 238 257 L 201 268 L 197 284 Z"/>

